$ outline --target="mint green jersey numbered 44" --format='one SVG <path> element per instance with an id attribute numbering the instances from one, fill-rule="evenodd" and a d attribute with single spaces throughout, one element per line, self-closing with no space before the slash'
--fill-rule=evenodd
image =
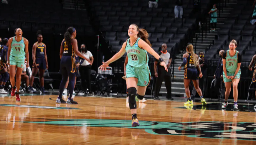
<path id="1" fill-rule="evenodd" d="M 25 56 L 24 39 L 22 37 L 21 41 L 17 42 L 15 38 L 16 38 L 16 36 L 14 36 L 13 39 L 12 39 L 11 56 L 23 57 L 23 56 Z"/>

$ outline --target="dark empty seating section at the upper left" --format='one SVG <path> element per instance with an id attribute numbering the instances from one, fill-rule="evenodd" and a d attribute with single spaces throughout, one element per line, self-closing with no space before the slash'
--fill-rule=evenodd
<path id="1" fill-rule="evenodd" d="M 63 9 L 59 1 L 22 0 L 1 5 L 0 31 L 2 33 L 21 28 L 26 32 L 36 33 L 41 29 L 43 34 L 63 34 L 70 25 L 76 28 L 78 34 L 94 34 L 85 10 Z"/>

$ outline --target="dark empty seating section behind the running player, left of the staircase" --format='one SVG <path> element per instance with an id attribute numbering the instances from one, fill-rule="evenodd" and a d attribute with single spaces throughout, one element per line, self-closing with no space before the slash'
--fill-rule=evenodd
<path id="1" fill-rule="evenodd" d="M 167 44 L 168 51 L 180 49 L 194 35 L 192 30 L 196 28 L 196 19 L 190 18 L 192 0 L 183 1 L 183 19 L 174 19 L 174 6 L 175 1 L 167 0 L 159 1 L 158 8 L 149 8 L 148 0 L 94 0 L 91 11 L 113 51 L 122 47 L 128 38 L 129 25 L 135 23 L 148 31 L 152 47 L 158 52 L 162 43 Z"/>

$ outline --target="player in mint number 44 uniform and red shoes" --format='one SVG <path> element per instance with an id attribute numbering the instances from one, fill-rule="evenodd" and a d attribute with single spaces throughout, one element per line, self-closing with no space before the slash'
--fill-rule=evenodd
<path id="1" fill-rule="evenodd" d="M 20 28 L 15 29 L 15 36 L 9 39 L 7 65 L 10 65 L 10 82 L 12 86 L 11 96 L 15 95 L 15 72 L 16 72 L 16 101 L 20 102 L 20 84 L 21 84 L 21 73 L 23 65 L 25 64 L 25 55 L 27 60 L 27 67 L 29 66 L 28 58 L 28 40 L 22 37 L 22 30 Z"/>

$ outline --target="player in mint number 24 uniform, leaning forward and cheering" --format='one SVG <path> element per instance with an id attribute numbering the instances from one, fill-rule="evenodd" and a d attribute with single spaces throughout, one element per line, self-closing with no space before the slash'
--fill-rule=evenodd
<path id="1" fill-rule="evenodd" d="M 229 50 L 223 54 L 223 80 L 226 86 L 225 101 L 222 105 L 222 109 L 226 109 L 228 106 L 228 98 L 231 91 L 231 85 L 233 85 L 234 96 L 234 110 L 238 110 L 238 83 L 240 81 L 240 66 L 241 66 L 241 54 L 235 50 L 237 42 L 232 40 L 229 43 Z"/>

